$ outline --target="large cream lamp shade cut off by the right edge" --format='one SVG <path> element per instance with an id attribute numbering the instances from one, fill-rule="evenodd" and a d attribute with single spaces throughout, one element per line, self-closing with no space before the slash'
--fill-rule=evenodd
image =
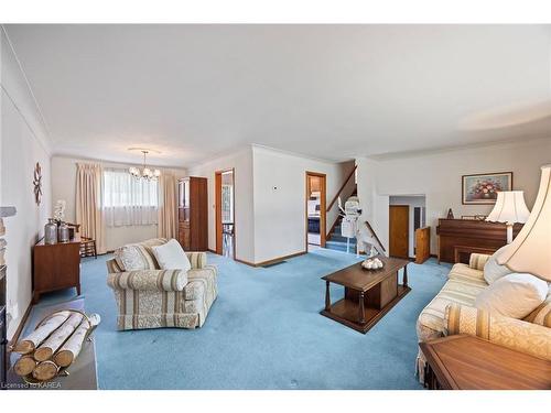
<path id="1" fill-rule="evenodd" d="M 551 281 L 551 164 L 541 167 L 540 189 L 528 221 L 496 259 L 512 271 Z"/>

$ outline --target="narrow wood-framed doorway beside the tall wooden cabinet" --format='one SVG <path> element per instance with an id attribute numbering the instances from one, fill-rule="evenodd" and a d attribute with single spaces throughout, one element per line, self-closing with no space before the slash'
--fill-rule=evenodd
<path id="1" fill-rule="evenodd" d="M 216 253 L 236 256 L 235 170 L 215 174 Z"/>

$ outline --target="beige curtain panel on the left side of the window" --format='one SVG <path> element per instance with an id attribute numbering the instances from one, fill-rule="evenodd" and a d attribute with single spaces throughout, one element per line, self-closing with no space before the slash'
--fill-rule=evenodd
<path id="1" fill-rule="evenodd" d="M 101 166 L 76 164 L 76 220 L 80 235 L 96 240 L 98 253 L 106 252 L 105 226 L 101 214 Z"/>

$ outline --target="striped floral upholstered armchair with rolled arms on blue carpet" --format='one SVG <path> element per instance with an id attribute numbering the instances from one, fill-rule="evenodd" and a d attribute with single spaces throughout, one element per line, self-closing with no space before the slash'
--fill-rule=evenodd
<path id="1" fill-rule="evenodd" d="M 195 328 L 205 323 L 217 295 L 217 269 L 206 263 L 205 252 L 186 252 L 190 271 L 161 270 L 151 247 L 166 241 L 156 238 L 125 246 L 107 261 L 118 329 Z"/>

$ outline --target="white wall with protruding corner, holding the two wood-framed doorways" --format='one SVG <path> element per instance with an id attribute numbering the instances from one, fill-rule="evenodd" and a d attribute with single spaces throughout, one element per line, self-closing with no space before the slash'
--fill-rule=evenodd
<path id="1" fill-rule="evenodd" d="M 236 258 L 260 263 L 305 250 L 305 172 L 327 175 L 328 203 L 354 162 L 317 161 L 252 145 L 190 167 L 191 176 L 208 178 L 208 248 L 212 250 L 216 248 L 215 172 L 233 167 L 236 171 Z M 336 216 L 335 205 L 327 215 L 327 230 Z"/>

